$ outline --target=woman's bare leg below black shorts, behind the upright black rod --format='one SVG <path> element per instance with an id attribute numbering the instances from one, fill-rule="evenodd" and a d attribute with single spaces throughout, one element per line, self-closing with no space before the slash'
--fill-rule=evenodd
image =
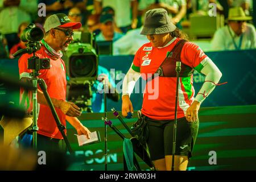
<path id="1" fill-rule="evenodd" d="M 166 171 L 171 171 L 172 155 L 166 155 L 165 159 Z M 174 156 L 174 171 L 185 171 L 188 166 L 188 156 L 175 155 Z"/>

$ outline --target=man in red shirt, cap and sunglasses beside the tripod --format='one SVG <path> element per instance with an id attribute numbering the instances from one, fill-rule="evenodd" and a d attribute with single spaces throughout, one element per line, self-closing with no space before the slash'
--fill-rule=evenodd
<path id="1" fill-rule="evenodd" d="M 61 124 L 66 126 L 65 120 L 77 130 L 77 134 L 84 134 L 89 138 L 90 131 L 82 125 L 76 117 L 81 115 L 80 108 L 72 102 L 65 101 L 66 98 L 66 71 L 64 61 L 61 59 L 62 51 L 67 50 L 69 43 L 73 40 L 73 30 L 80 28 L 81 23 L 71 22 L 65 14 L 53 14 L 46 19 L 44 30 L 45 38 L 40 42 L 42 47 L 35 53 L 40 59 L 50 59 L 50 69 L 41 69 L 39 78 L 43 78 L 47 85 L 47 92 L 51 97 L 56 113 Z M 32 55 L 27 53 L 19 59 L 20 77 L 32 72 L 27 69 L 28 58 Z M 22 90 L 21 90 L 22 91 Z M 38 150 L 56 150 L 64 144 L 63 137 L 56 126 L 55 119 L 51 113 L 46 98 L 41 90 L 38 90 L 38 103 L 40 104 L 38 116 Z M 28 110 L 31 111 L 32 106 Z M 65 130 L 65 133 L 67 131 Z"/>

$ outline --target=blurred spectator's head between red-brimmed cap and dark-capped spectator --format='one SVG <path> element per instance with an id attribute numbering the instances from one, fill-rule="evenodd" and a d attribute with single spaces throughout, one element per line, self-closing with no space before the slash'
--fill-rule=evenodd
<path id="1" fill-rule="evenodd" d="M 95 34 L 96 36 L 100 34 L 100 15 L 92 14 L 88 16 L 86 27 L 91 34 Z"/>

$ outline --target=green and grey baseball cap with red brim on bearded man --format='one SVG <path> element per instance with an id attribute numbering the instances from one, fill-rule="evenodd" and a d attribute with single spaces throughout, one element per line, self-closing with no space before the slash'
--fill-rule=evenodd
<path id="1" fill-rule="evenodd" d="M 64 13 L 57 13 L 49 16 L 44 23 L 44 31 L 48 32 L 51 28 L 56 27 L 72 27 L 78 29 L 82 26 L 80 22 L 71 22 Z"/>

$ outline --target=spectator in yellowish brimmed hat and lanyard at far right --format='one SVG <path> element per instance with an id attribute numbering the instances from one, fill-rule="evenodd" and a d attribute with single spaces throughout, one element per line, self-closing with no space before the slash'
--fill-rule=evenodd
<path id="1" fill-rule="evenodd" d="M 251 20 L 242 7 L 229 9 L 228 25 L 218 29 L 212 39 L 212 51 L 240 50 L 256 48 L 256 32 Z"/>

